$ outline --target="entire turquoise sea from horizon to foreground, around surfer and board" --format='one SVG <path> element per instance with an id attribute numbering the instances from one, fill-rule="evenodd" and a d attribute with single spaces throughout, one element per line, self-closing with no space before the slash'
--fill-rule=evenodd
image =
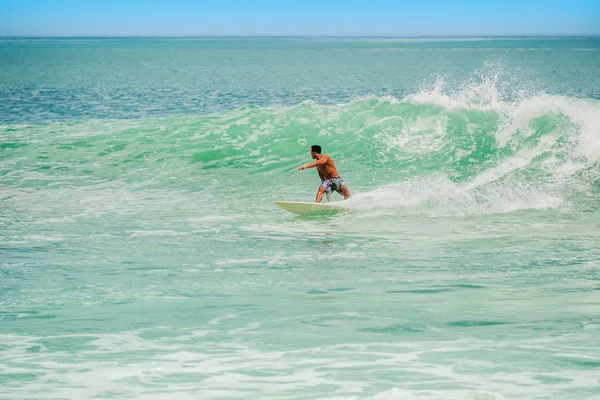
<path id="1" fill-rule="evenodd" d="M 598 38 L 2 40 L 0 398 L 600 398 L 599 161 Z"/>

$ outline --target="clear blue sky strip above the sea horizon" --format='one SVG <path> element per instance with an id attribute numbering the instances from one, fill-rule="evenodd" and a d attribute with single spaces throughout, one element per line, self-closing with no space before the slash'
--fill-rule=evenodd
<path id="1" fill-rule="evenodd" d="M 0 36 L 599 34 L 600 0 L 0 0 Z"/>

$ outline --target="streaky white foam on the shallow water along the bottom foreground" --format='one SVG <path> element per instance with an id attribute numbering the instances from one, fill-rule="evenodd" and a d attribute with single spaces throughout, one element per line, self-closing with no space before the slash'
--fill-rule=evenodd
<path id="1" fill-rule="evenodd" d="M 417 340 L 278 350 L 244 338 L 264 335 L 269 324 L 275 328 L 281 320 L 252 323 L 248 330 L 236 331 L 235 341 L 217 340 L 224 332 L 215 328 L 236 318 L 225 315 L 208 322 L 212 329 L 182 329 L 175 336 L 155 339 L 146 338 L 144 330 L 40 338 L 3 335 L 0 361 L 4 374 L 31 374 L 18 388 L 9 389 L 12 395 L 38 398 L 107 393 L 156 399 L 242 398 L 249 392 L 282 398 L 310 391 L 311 398 L 503 399 L 597 388 L 592 370 L 580 370 L 568 361 L 560 371 L 552 367 L 561 360 L 597 360 L 572 335 L 502 344 L 481 339 Z M 158 327 L 148 333 L 160 331 Z M 68 342 L 73 345 L 57 348 Z M 539 364 L 540 354 L 548 363 Z M 455 361 L 448 363 L 448 357 Z M 500 359 L 504 362 L 497 365 Z M 360 378 L 356 370 L 362 371 Z"/>

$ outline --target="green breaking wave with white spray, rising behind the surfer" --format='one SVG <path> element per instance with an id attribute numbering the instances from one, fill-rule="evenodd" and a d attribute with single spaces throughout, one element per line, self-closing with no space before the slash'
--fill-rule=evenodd
<path id="1" fill-rule="evenodd" d="M 2 183 L 178 190 L 226 171 L 281 180 L 320 144 L 363 193 L 360 207 L 493 211 L 596 201 L 600 102 L 545 94 L 509 101 L 498 82 L 492 75 L 447 93 L 439 79 L 403 99 L 334 106 L 4 126 Z"/>

